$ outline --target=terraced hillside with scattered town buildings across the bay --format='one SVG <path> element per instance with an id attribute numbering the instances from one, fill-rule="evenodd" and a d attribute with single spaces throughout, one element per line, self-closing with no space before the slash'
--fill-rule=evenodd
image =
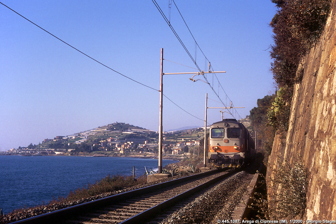
<path id="1" fill-rule="evenodd" d="M 250 126 L 248 118 L 241 120 Z M 164 132 L 163 154 L 199 155 L 203 152 L 204 127 Z M 158 153 L 158 133 L 128 123 L 112 123 L 69 136 L 44 139 L 42 143 L 12 148 L 2 155 L 151 156 Z M 201 151 L 201 152 L 200 152 Z"/>

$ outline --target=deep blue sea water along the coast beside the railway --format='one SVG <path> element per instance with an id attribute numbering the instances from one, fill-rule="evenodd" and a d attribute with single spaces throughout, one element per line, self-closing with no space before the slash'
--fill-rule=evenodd
<path id="1" fill-rule="evenodd" d="M 174 163 L 162 160 L 162 165 Z M 158 170 L 158 159 L 84 156 L 0 156 L 0 209 L 14 209 L 48 203 L 67 196 L 87 184 L 112 175 L 145 174 L 145 167 Z"/>

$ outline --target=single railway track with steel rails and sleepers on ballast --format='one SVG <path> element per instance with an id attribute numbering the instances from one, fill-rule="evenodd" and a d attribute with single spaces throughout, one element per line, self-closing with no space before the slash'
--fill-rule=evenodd
<path id="1" fill-rule="evenodd" d="M 18 223 L 142 223 L 238 170 L 210 171 L 101 198 L 14 222 Z"/>

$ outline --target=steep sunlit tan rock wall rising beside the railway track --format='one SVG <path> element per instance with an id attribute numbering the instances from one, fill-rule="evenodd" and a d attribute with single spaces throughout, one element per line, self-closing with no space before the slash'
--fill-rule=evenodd
<path id="1" fill-rule="evenodd" d="M 333 3 L 320 42 L 302 60 L 302 81 L 295 85 L 289 130 L 284 144 L 276 136 L 266 180 L 268 199 L 274 170 L 285 160 L 293 167 L 296 155 L 307 170 L 303 220 L 336 220 L 336 3 Z M 272 171 L 273 170 L 273 171 Z M 272 205 L 270 205 L 272 206 Z"/>

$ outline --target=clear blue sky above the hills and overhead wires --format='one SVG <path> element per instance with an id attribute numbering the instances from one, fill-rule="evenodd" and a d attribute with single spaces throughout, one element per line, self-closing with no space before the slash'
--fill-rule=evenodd
<path id="1" fill-rule="evenodd" d="M 151 0 L 146 1 L 11 1 L 3 4 L 110 68 L 154 89 L 160 87 L 160 50 L 164 59 L 195 68 Z M 157 0 L 169 18 L 169 0 Z M 257 99 L 274 91 L 269 22 L 277 8 L 270 0 L 175 0 L 240 117 Z M 207 71 L 208 63 L 174 3 L 170 23 Z M 89 59 L 0 5 L 0 150 L 38 144 L 113 122 L 157 131 L 159 92 L 127 79 Z M 164 72 L 195 69 L 164 61 Z M 192 75 L 165 75 L 163 129 L 203 126 L 208 107 L 222 106 L 204 82 Z M 202 78 L 202 77 L 199 77 Z M 207 75 L 229 105 L 213 75 Z M 208 123 L 221 119 L 208 109 Z M 235 112 L 234 117 L 239 119 Z M 224 113 L 225 118 L 233 118 Z"/>

